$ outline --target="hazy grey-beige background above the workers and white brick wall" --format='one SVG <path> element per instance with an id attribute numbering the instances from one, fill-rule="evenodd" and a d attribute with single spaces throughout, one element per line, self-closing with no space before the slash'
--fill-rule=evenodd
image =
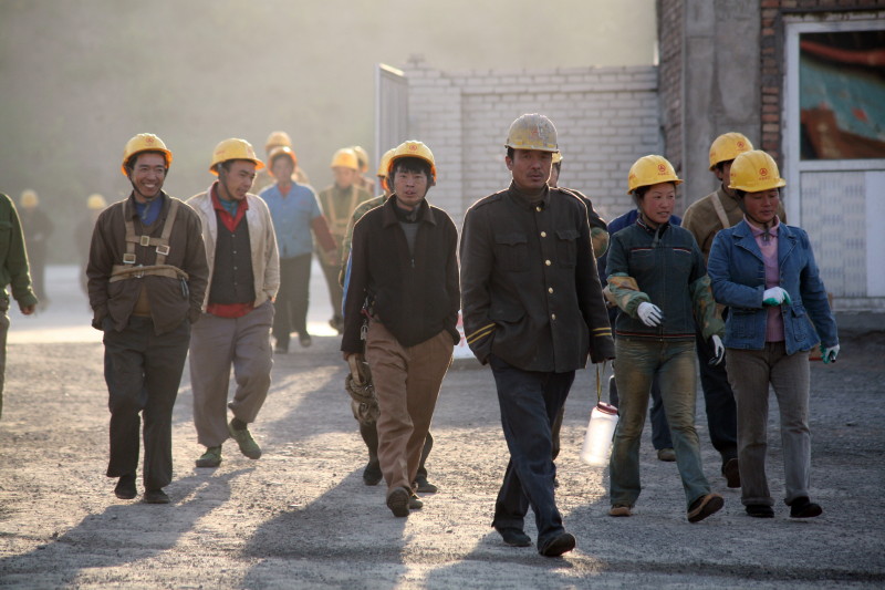
<path id="1" fill-rule="evenodd" d="M 212 180 L 215 145 L 263 155 L 287 131 L 319 190 L 342 146 L 374 146 L 378 62 L 444 71 L 636 65 L 656 59 L 654 0 L 0 0 L 0 192 L 55 216 L 49 262 L 73 260 L 85 199 L 129 192 L 136 133 L 175 161 L 166 190 Z M 539 105 L 543 111 L 543 105 Z"/>

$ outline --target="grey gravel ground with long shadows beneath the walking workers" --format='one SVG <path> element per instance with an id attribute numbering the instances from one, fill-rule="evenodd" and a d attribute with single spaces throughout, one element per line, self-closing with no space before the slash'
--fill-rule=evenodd
<path id="1" fill-rule="evenodd" d="M 791 520 L 781 503 L 774 519 L 745 515 L 739 493 L 718 474 L 702 403 L 705 467 L 726 497 L 723 510 L 686 521 L 676 466 L 655 458 L 646 432 L 635 516 L 607 517 L 607 475 L 577 458 L 595 401 L 595 376 L 580 372 L 558 462 L 559 504 L 577 549 L 548 559 L 504 546 L 489 526 L 507 463 L 489 371 L 472 361 L 449 371 L 428 460 L 440 491 L 425 496 L 423 510 L 394 518 L 384 488 L 363 485 L 365 452 L 333 337 L 274 358 L 272 391 L 252 428 L 264 449 L 257 462 L 229 441 L 219 468 L 194 467 L 201 447 L 186 373 L 175 410 L 175 479 L 166 488 L 173 504 L 117 500 L 115 482 L 104 476 L 102 345 L 97 332 L 74 328 L 83 324 L 85 300 L 65 284 L 70 300 L 56 297 L 43 320 L 29 325 L 13 317 L 0 422 L 0 587 L 885 586 L 881 317 L 843 338 L 835 365 L 812 364 L 812 493 L 824 515 L 811 520 Z M 41 332 L 41 321 L 72 328 L 62 338 Z M 777 497 L 783 479 L 774 410 L 770 443 Z M 527 532 L 534 538 L 533 525 Z"/>

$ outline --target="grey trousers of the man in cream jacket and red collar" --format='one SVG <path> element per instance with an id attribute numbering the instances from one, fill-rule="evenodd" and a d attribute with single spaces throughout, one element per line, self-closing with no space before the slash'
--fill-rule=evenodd
<path id="1" fill-rule="evenodd" d="M 254 422 L 270 389 L 273 304 L 266 301 L 241 318 L 204 313 L 190 334 L 190 385 L 197 441 L 207 447 L 228 439 L 228 411 Z M 228 403 L 230 368 L 237 391 Z"/>

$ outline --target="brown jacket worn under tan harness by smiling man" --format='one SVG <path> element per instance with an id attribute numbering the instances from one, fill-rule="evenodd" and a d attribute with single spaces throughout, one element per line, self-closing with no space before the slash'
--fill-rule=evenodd
<path id="1" fill-rule="evenodd" d="M 122 331 L 129 321 L 138 294 L 144 287 L 150 302 L 150 315 L 157 334 L 169 332 L 186 318 L 190 322 L 200 317 L 200 307 L 206 293 L 209 267 L 206 262 L 206 248 L 202 242 L 200 220 L 197 214 L 179 201 L 178 214 L 169 236 L 169 255 L 167 265 L 187 272 L 186 284 L 179 279 L 169 277 L 145 276 L 116 282 L 108 282 L 114 265 L 123 262 L 126 252 L 125 218 L 134 220 L 136 236 L 148 234 L 159 237 L 166 216 L 169 213 L 170 197 L 163 193 L 163 209 L 157 220 L 149 228 L 143 228 L 135 210 L 135 197 L 115 203 L 102 211 L 95 222 L 90 246 L 90 261 L 86 266 L 88 278 L 90 306 L 94 311 L 93 328 L 102 330 L 102 321 L 111 317 L 114 328 Z M 156 248 L 135 246 L 135 265 L 149 266 L 156 263 Z"/>

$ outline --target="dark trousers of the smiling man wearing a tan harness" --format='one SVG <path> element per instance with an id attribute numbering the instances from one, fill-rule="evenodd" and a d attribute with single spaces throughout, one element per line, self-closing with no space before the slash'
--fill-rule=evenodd
<path id="1" fill-rule="evenodd" d="M 135 474 L 144 415 L 144 484 L 160 489 L 173 479 L 173 407 L 181 382 L 190 323 L 185 320 L 165 334 L 154 333 L 150 318 L 129 319 L 117 332 L 104 323 L 104 379 L 110 394 L 111 460 L 107 476 Z"/>

